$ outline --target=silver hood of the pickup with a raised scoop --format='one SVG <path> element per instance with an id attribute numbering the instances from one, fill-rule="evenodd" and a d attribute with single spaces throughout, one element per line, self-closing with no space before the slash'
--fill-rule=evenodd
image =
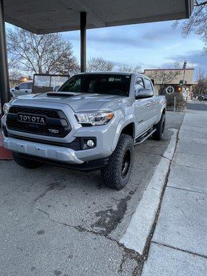
<path id="1" fill-rule="evenodd" d="M 119 103 L 123 105 L 128 97 L 121 97 L 116 95 L 103 95 L 103 94 L 90 94 L 90 93 L 72 93 L 72 92 L 59 92 L 57 93 L 43 93 L 43 94 L 30 94 L 17 97 L 12 101 L 14 105 L 21 105 L 21 103 L 37 105 L 38 102 L 48 103 L 61 103 L 67 104 L 75 112 L 79 111 L 91 111 L 102 109 L 112 109 L 114 106 L 119 106 Z M 50 95 L 50 96 L 49 96 Z"/>

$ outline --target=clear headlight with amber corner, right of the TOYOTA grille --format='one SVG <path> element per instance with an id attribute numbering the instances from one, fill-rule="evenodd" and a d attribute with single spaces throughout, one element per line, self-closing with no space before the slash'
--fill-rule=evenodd
<path id="1" fill-rule="evenodd" d="M 112 117 L 114 117 L 114 113 L 110 111 L 90 111 L 90 112 L 78 112 L 75 114 L 77 117 L 77 121 L 81 125 L 92 125 L 92 126 L 102 126 L 108 123 Z"/>

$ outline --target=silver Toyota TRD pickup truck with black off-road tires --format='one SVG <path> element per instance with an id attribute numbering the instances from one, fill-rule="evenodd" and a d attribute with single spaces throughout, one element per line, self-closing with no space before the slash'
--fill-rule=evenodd
<path id="1" fill-rule="evenodd" d="M 101 170 L 106 186 L 119 190 L 128 183 L 134 146 L 162 139 L 166 99 L 141 74 L 81 73 L 57 92 L 17 97 L 3 110 L 3 146 L 17 164 Z"/>

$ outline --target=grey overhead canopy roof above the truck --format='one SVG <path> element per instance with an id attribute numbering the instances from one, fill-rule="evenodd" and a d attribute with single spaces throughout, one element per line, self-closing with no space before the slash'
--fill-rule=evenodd
<path id="1" fill-rule="evenodd" d="M 80 30 L 79 13 L 87 13 L 86 28 L 185 19 L 193 0 L 6 0 L 5 21 L 37 34 Z"/>

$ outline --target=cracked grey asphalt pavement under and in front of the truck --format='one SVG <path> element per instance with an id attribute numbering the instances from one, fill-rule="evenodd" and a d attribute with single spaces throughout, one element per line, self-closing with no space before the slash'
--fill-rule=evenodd
<path id="1" fill-rule="evenodd" d="M 184 114 L 167 112 L 164 141 L 135 148 L 126 188 L 100 173 L 0 161 L 0 275 L 139 275 L 140 256 L 119 244 L 172 131 Z"/>

